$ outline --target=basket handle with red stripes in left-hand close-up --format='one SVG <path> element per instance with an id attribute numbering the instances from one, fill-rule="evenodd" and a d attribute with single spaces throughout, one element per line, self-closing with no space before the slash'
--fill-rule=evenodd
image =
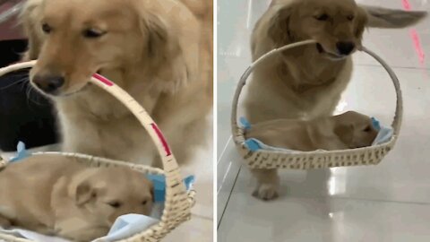
<path id="1" fill-rule="evenodd" d="M 0 76 L 4 75 L 5 73 L 11 73 L 20 69 L 30 68 L 35 64 L 36 61 L 30 61 L 9 65 L 0 69 Z M 176 159 L 168 147 L 168 143 L 159 130 L 159 127 L 155 124 L 145 109 L 142 108 L 142 106 L 135 99 L 133 99 L 130 94 L 103 76 L 94 74 L 91 78 L 91 82 L 103 90 L 109 92 L 114 97 L 116 97 L 116 99 L 121 101 L 125 107 L 127 107 L 133 113 L 133 115 L 137 117 L 148 134 L 150 134 L 152 142 L 157 146 L 159 155 L 163 162 L 163 169 L 166 173 L 166 203 L 168 203 L 168 199 L 173 199 L 172 195 L 170 195 L 172 194 L 173 187 L 175 187 L 176 191 L 177 189 L 180 189 L 180 194 L 183 196 L 175 197 L 175 199 L 186 199 L 186 189 Z"/>

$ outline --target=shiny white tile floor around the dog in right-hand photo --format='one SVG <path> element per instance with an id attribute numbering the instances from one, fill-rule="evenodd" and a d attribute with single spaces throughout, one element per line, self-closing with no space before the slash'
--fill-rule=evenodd
<path id="1" fill-rule="evenodd" d="M 357 2 L 430 10 L 426 0 Z M 249 34 L 269 4 L 218 4 L 219 242 L 430 241 L 430 19 L 410 30 L 366 32 L 364 45 L 383 56 L 401 82 L 405 114 L 394 151 L 374 167 L 282 171 L 280 198 L 263 203 L 250 195 L 255 181 L 229 138 L 229 115 L 236 82 L 250 62 Z M 388 75 L 370 57 L 356 54 L 355 59 L 343 108 L 390 124 L 395 97 Z"/>

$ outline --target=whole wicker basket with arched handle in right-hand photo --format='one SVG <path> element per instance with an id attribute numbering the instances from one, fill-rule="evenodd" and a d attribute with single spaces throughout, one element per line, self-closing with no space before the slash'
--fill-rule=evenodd
<path id="1" fill-rule="evenodd" d="M 236 93 L 233 99 L 233 108 L 231 112 L 231 127 L 233 133 L 233 140 L 236 144 L 236 148 L 239 153 L 244 157 L 245 163 L 251 169 L 324 169 L 334 167 L 346 167 L 346 166 L 364 166 L 364 165 L 376 165 L 383 160 L 383 157 L 391 151 L 400 133 L 401 119 L 403 116 L 403 102 L 400 91 L 400 83 L 392 71 L 391 67 L 387 65 L 380 56 L 374 54 L 374 52 L 362 47 L 359 50 L 366 54 L 373 56 L 384 69 L 390 74 L 392 83 L 396 90 L 396 113 L 392 122 L 393 135 L 389 142 L 378 144 L 374 146 L 349 149 L 343 151 L 267 151 L 258 150 L 250 151 L 245 145 L 245 129 L 237 125 L 237 104 L 240 93 L 245 86 L 246 80 L 253 72 L 256 65 L 259 65 L 262 60 L 269 56 L 276 55 L 281 51 L 288 48 L 296 48 L 307 44 L 315 43 L 314 40 L 306 40 L 284 46 L 282 48 L 276 48 L 265 54 L 264 56 L 257 59 L 252 65 L 250 65 L 245 73 L 240 78 Z"/>

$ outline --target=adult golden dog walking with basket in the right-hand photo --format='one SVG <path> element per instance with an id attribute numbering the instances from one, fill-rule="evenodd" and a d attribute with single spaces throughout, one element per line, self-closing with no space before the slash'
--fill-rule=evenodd
<path id="1" fill-rule="evenodd" d="M 285 51 L 254 70 L 245 112 L 251 123 L 278 118 L 330 116 L 348 85 L 352 54 L 366 27 L 402 28 L 425 12 L 403 12 L 354 0 L 274 0 L 252 35 L 253 59 L 273 48 L 314 39 L 318 44 Z M 278 194 L 276 169 L 253 170 L 257 197 Z"/>

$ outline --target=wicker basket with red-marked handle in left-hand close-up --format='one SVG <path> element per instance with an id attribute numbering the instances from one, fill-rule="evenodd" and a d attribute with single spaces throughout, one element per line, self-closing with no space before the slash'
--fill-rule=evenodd
<path id="1" fill-rule="evenodd" d="M 30 68 L 35 65 L 36 61 L 21 63 L 17 65 L 10 65 L 0 69 L 0 76 L 5 73 L 10 73 L 23 68 Z M 76 161 L 85 162 L 92 167 L 107 167 L 107 166 L 125 166 L 131 169 L 140 171 L 145 174 L 159 174 L 166 177 L 166 202 L 165 208 L 158 224 L 155 224 L 145 231 L 134 235 L 131 238 L 125 238 L 119 241 L 132 242 L 132 241 L 147 241 L 154 242 L 164 238 L 172 229 L 175 229 L 179 224 L 191 218 L 191 208 L 193 207 L 195 191 L 186 191 L 183 183 L 183 177 L 180 174 L 179 167 L 176 163 L 175 157 L 171 153 L 168 143 L 159 131 L 158 126 L 150 118 L 148 113 L 142 108 L 139 103 L 134 100 L 127 92 L 118 87 L 115 83 L 108 81 L 106 78 L 99 74 L 95 74 L 91 78 L 91 82 L 109 92 L 116 97 L 119 101 L 125 104 L 127 108 L 133 113 L 135 117 L 141 122 L 142 126 L 150 134 L 152 142 L 155 143 L 159 151 L 163 163 L 163 169 L 154 169 L 147 166 L 136 165 L 118 160 L 108 160 L 104 158 L 92 157 L 89 155 L 78 153 L 63 153 L 63 152 L 40 152 L 37 155 L 63 155 L 67 157 L 74 157 Z M 5 165 L 6 162 L 0 161 L 0 166 Z M 0 233 L 0 240 L 6 241 L 20 241 L 30 242 L 31 240 L 25 238 L 16 238 L 10 235 Z"/>

